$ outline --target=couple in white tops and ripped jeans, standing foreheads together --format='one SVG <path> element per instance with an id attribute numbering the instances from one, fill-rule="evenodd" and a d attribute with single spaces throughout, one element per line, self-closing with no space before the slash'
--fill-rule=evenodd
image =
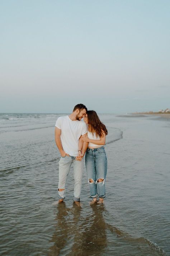
<path id="1" fill-rule="evenodd" d="M 84 117 L 84 121 L 81 119 Z M 104 150 L 107 129 L 95 111 L 88 111 L 83 104 L 77 104 L 69 116 L 58 117 L 55 125 L 55 141 L 60 151 L 59 161 L 59 201 L 65 198 L 66 179 L 71 164 L 74 167 L 74 202 L 80 202 L 83 157 L 85 155 L 92 203 L 103 202 L 105 198 L 105 178 L 107 157 Z"/>

